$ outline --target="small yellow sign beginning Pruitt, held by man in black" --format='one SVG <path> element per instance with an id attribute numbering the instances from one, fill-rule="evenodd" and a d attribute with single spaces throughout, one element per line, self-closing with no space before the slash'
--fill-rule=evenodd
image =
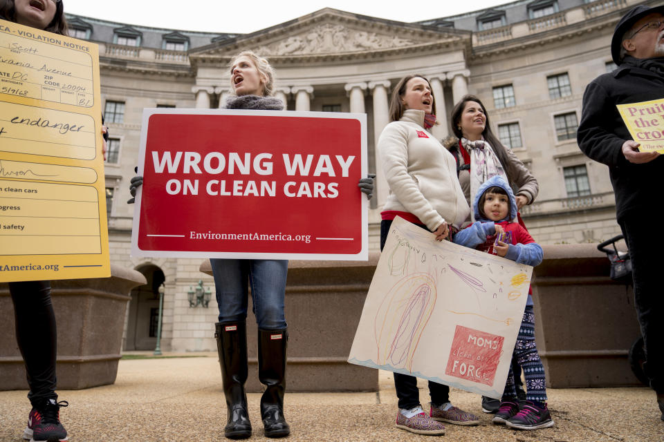
<path id="1" fill-rule="evenodd" d="M 617 107 L 639 151 L 664 153 L 664 99 Z"/>

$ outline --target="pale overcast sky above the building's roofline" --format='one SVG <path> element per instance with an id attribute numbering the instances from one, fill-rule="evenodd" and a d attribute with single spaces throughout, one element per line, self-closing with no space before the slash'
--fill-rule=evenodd
<path id="1" fill-rule="evenodd" d="M 459 15 L 508 0 L 438 0 L 417 3 L 386 0 L 64 0 L 70 14 L 154 28 L 246 34 L 302 17 L 322 8 L 398 21 Z"/>

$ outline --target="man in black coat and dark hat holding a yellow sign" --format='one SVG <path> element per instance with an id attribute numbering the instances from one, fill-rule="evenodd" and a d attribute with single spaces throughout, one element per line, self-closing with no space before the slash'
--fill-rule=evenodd
<path id="1" fill-rule="evenodd" d="M 638 150 L 616 108 L 664 99 L 664 6 L 637 6 L 627 12 L 614 31 L 611 56 L 618 68 L 587 86 L 577 138 L 586 155 L 609 166 L 618 224 L 631 256 L 634 303 L 647 358 L 644 371 L 664 421 L 661 233 L 649 222 L 661 218 L 656 213 L 662 213 L 664 157 Z"/>

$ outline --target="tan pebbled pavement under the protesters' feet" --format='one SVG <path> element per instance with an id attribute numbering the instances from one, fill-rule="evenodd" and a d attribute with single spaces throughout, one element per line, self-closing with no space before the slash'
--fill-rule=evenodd
<path id="1" fill-rule="evenodd" d="M 114 385 L 60 391 L 61 419 L 72 442 L 223 441 L 225 402 L 216 354 L 120 361 Z M 425 384 L 422 383 L 422 386 Z M 664 441 L 654 392 L 646 388 L 548 390 L 555 426 L 519 432 L 490 423 L 479 396 L 453 390 L 452 403 L 481 415 L 481 425 L 446 425 L 443 441 Z M 259 394 L 249 394 L 254 435 L 263 436 Z M 427 392 L 421 390 L 427 400 Z M 0 441 L 21 441 L 30 406 L 26 391 L 0 392 Z M 398 430 L 391 374 L 373 393 L 287 394 L 288 441 L 420 441 Z"/>

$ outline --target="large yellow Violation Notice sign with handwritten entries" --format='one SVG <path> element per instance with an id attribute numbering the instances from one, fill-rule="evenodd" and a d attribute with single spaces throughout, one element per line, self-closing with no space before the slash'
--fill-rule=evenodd
<path id="1" fill-rule="evenodd" d="M 0 282 L 111 276 L 99 50 L 0 20 Z"/>

